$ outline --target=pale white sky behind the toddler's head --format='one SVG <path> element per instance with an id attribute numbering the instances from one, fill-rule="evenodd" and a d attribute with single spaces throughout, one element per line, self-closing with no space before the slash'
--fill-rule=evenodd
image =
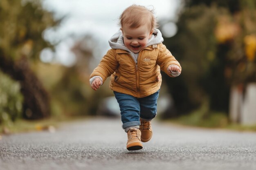
<path id="1" fill-rule="evenodd" d="M 175 24 L 167 22 L 177 19 L 177 10 L 180 8 L 180 0 L 43 0 L 43 7 L 54 12 L 54 18 L 65 16 L 58 29 L 47 29 L 44 38 L 55 44 L 56 53 L 50 49 L 42 51 L 40 58 L 43 62 L 52 62 L 55 55 L 57 62 L 72 66 L 75 56 L 70 51 L 74 45 L 74 37 L 93 35 L 99 41 L 101 52 L 104 55 L 110 48 L 108 40 L 119 30 L 119 15 L 132 4 L 139 4 L 149 9 L 155 9 L 155 17 L 158 20 L 166 20 L 163 35 L 171 37 L 177 31 Z M 72 37 L 72 38 L 71 38 Z M 102 57 L 99 56 L 99 57 Z"/>

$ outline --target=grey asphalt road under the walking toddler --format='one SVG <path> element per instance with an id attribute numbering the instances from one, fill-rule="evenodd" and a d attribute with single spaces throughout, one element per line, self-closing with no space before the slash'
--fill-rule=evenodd
<path id="1" fill-rule="evenodd" d="M 120 119 L 65 124 L 56 132 L 3 136 L 0 170 L 256 170 L 256 133 L 153 120 L 153 137 L 126 150 Z"/>

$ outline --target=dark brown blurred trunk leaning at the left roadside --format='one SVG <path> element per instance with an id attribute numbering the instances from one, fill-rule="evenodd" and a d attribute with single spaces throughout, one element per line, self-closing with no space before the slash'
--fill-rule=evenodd
<path id="1" fill-rule="evenodd" d="M 20 82 L 21 93 L 24 97 L 23 117 L 25 119 L 42 119 L 49 117 L 49 95 L 42 83 L 29 67 L 26 57 L 13 61 L 4 56 L 0 50 L 0 69 Z"/>

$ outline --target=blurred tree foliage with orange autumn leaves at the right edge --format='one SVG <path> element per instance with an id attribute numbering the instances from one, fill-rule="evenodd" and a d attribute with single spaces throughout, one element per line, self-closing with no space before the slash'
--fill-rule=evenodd
<path id="1" fill-rule="evenodd" d="M 256 2 L 240 0 L 241 10 L 218 16 L 215 35 L 219 46 L 229 46 L 225 78 L 230 86 L 256 82 Z"/>

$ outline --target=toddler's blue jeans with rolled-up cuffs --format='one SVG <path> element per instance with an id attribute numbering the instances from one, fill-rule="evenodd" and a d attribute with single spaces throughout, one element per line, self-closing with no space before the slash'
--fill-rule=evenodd
<path id="1" fill-rule="evenodd" d="M 132 95 L 114 91 L 121 111 L 123 128 L 140 124 L 139 117 L 151 120 L 157 115 L 157 99 L 159 91 L 147 97 L 137 98 Z"/>

